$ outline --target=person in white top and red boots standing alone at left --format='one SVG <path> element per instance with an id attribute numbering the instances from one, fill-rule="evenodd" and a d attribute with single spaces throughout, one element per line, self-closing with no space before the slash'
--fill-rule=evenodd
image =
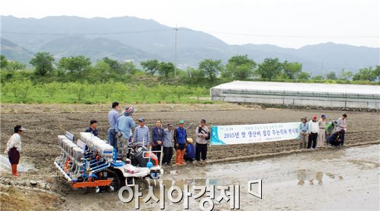
<path id="1" fill-rule="evenodd" d="M 20 152 L 21 152 L 21 135 L 25 128 L 21 125 L 15 126 L 15 133 L 12 134 L 12 137 L 7 142 L 7 148 L 4 153 L 8 153 L 8 159 L 10 166 L 12 167 L 12 174 L 15 177 L 19 177 L 20 174 L 17 174 L 17 164 L 19 164 Z"/>

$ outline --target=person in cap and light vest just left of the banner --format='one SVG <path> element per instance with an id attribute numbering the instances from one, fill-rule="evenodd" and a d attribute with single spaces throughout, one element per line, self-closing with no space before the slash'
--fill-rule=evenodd
<path id="1" fill-rule="evenodd" d="M 201 119 L 200 125 L 196 128 L 196 161 L 202 159 L 202 163 L 205 163 L 207 159 L 207 143 L 209 138 L 209 128 L 206 126 L 206 120 Z"/>

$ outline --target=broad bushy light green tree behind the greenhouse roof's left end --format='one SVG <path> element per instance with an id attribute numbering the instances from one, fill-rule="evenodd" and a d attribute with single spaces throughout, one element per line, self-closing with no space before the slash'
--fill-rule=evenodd
<path id="1" fill-rule="evenodd" d="M 247 79 L 254 75 L 254 68 L 256 63 L 248 58 L 248 55 L 236 55 L 229 58 L 227 63 L 227 70 L 224 73 L 224 77 L 232 75 L 238 80 Z"/>

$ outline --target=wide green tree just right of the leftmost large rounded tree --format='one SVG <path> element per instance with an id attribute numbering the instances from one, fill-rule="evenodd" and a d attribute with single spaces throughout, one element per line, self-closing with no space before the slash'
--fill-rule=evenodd
<path id="1" fill-rule="evenodd" d="M 76 73 L 79 76 L 82 76 L 82 74 L 88 70 L 89 66 L 91 66 L 91 59 L 89 57 L 84 57 L 83 55 L 76 57 L 62 57 L 58 61 L 58 68 L 69 70 L 71 73 Z"/>

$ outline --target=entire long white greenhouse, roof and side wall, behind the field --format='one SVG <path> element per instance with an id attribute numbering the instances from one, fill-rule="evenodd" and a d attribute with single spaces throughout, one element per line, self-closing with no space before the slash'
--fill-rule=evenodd
<path id="1" fill-rule="evenodd" d="M 233 81 L 210 95 L 213 101 L 380 109 L 380 86 L 369 85 Z"/>

